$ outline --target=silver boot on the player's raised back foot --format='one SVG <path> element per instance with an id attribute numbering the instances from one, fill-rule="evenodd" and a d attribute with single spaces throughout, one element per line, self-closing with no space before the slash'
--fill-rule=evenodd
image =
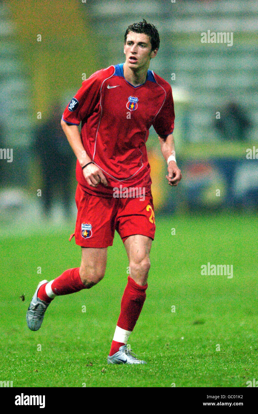
<path id="1" fill-rule="evenodd" d="M 43 322 L 44 314 L 49 305 L 49 303 L 41 301 L 41 299 L 37 297 L 39 288 L 44 283 L 48 283 L 48 280 L 41 280 L 41 282 L 39 282 L 36 292 L 34 293 L 33 298 L 31 299 L 31 303 L 29 304 L 29 308 L 26 313 L 27 325 L 31 331 L 39 330 L 39 328 L 41 327 L 41 323 Z"/>

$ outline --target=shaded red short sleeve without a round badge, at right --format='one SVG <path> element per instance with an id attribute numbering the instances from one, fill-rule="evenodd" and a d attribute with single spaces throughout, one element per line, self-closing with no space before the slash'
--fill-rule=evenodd
<path id="1" fill-rule="evenodd" d="M 154 118 L 152 125 L 158 135 L 169 135 L 174 131 L 174 121 L 174 101 L 172 89 L 169 87 L 169 91 L 166 91 L 166 99 L 162 105 L 162 108 Z"/>

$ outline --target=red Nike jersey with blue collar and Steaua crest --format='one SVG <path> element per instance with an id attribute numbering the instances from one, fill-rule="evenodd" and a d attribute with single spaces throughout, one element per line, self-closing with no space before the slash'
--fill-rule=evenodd
<path id="1" fill-rule="evenodd" d="M 113 188 L 145 187 L 150 191 L 146 141 L 153 125 L 158 135 L 174 130 L 171 86 L 148 70 L 146 81 L 133 86 L 125 80 L 123 63 L 95 72 L 82 82 L 63 113 L 63 120 L 80 125 L 90 159 L 104 173 L 108 187 L 91 187 L 77 160 L 76 179 L 90 194 L 112 197 Z"/>

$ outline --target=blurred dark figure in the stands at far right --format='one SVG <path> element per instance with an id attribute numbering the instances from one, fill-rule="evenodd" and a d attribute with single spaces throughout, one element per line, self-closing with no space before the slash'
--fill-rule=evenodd
<path id="1" fill-rule="evenodd" d="M 215 120 L 215 127 L 224 140 L 244 141 L 246 130 L 251 128 L 251 121 L 244 108 L 238 103 L 229 102 L 220 112 L 220 119 Z"/>

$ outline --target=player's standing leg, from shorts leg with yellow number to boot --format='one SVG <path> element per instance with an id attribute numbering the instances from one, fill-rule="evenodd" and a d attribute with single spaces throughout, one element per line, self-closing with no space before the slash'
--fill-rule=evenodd
<path id="1" fill-rule="evenodd" d="M 125 245 L 130 273 L 121 301 L 121 312 L 111 344 L 108 363 L 120 363 L 119 359 L 121 358 L 125 358 L 126 363 L 141 363 L 137 359 L 128 362 L 128 357 L 123 349 L 126 351 L 128 337 L 135 327 L 146 298 L 147 277 L 150 268 L 149 252 L 155 228 L 154 207 L 150 192 L 146 195 L 145 200 L 139 200 L 139 198 L 121 199 L 121 208 L 116 219 L 116 230 Z"/>

